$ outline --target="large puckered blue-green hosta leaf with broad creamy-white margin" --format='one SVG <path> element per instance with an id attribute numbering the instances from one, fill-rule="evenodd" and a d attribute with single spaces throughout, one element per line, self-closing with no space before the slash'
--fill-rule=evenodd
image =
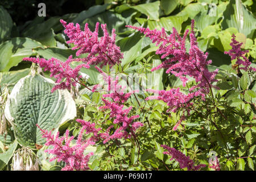
<path id="1" fill-rule="evenodd" d="M 68 90 L 51 93 L 55 83 L 40 75 L 28 75 L 14 86 L 5 107 L 7 120 L 14 128 L 15 138 L 23 146 L 44 144 L 42 129 L 55 131 L 76 117 L 76 105 Z"/>

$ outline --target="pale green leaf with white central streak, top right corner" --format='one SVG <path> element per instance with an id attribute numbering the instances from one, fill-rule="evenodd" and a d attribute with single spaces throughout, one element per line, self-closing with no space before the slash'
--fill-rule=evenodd
<path id="1" fill-rule="evenodd" d="M 256 28 L 256 20 L 242 4 L 242 1 L 230 0 L 223 15 L 224 19 L 221 26 L 224 30 L 228 27 L 235 27 L 238 32 L 245 34 L 247 38 L 252 38 Z"/>

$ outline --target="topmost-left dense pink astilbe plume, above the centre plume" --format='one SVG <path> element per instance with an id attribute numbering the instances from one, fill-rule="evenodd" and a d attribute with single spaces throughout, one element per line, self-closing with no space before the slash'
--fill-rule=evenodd
<path id="1" fill-rule="evenodd" d="M 98 38 L 98 28 L 100 23 L 96 23 L 94 32 L 90 31 L 88 23 L 85 23 L 84 31 L 80 30 L 80 25 L 76 23 L 65 22 L 60 20 L 65 27 L 64 33 L 69 37 L 68 44 L 73 43 L 75 47 L 72 49 L 78 49 L 76 56 L 80 56 L 83 53 L 88 53 L 88 56 L 81 59 L 88 67 L 90 64 L 98 65 L 102 68 L 104 65 L 112 67 L 115 64 L 121 63 L 123 54 L 120 48 L 115 44 L 115 29 L 112 30 L 112 36 L 109 36 L 106 24 L 101 24 L 101 29 L 104 36 Z"/>

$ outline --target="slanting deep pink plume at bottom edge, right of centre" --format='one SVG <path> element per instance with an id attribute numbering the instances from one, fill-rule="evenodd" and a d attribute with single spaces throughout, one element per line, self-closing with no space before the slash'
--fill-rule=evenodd
<path id="1" fill-rule="evenodd" d="M 176 150 L 175 148 L 171 148 L 166 145 L 161 145 L 161 147 L 167 150 L 167 151 L 164 151 L 163 154 L 172 156 L 170 160 L 175 159 L 180 164 L 181 169 L 187 168 L 188 171 L 191 171 L 191 170 L 197 171 L 202 167 L 206 167 L 205 164 L 199 164 L 195 166 L 195 163 L 193 162 L 193 160 L 189 159 L 189 156 L 185 156 L 182 152 Z"/>

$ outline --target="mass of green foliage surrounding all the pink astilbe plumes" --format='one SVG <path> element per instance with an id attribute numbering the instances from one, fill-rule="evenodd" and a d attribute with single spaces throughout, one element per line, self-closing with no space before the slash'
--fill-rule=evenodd
<path id="1" fill-rule="evenodd" d="M 254 170 L 255 74 L 239 70 L 234 64 L 236 60 L 230 60 L 230 57 L 223 52 L 231 48 L 229 44 L 234 33 L 237 40 L 243 43 L 242 48 L 249 50 L 247 53 L 249 60 L 256 62 L 255 2 L 100 0 L 93 3 L 86 1 L 88 3 L 86 4 L 83 1 L 86 5 L 82 6 L 79 12 L 64 11 L 47 18 L 31 18 L 23 24 L 17 22 L 19 18 L 11 10 L 11 7 L 14 7 L 11 2 L 15 1 L 10 1 L 10 6 L 5 2 L 0 3 L 2 5 L 0 6 L 0 94 L 3 96 L 2 91 L 7 86 L 10 97 L 6 105 L 10 115 L 5 117 L 14 120 L 10 121 L 13 126 L 9 125 L 8 131 L 0 135 L 0 169 L 10 168 L 9 161 L 17 147 L 23 145 L 35 147 L 35 143 L 44 144 L 39 129 L 34 126 L 35 123 L 41 124 L 43 129 L 59 130 L 60 135 L 68 129 L 75 139 L 79 134 L 81 129 L 79 123 L 73 120 L 63 121 L 66 111 L 63 108 L 73 103 L 70 94 L 51 93 L 53 83 L 48 79 L 49 72 L 44 72 L 44 77 L 27 76 L 31 64 L 22 61 L 23 57 L 28 56 L 40 56 L 45 59 L 56 57 L 65 61 L 69 55 L 75 55 L 75 51 L 72 51 L 73 45 L 65 43 L 68 39 L 59 23 L 60 19 L 80 23 L 82 26 L 88 23 L 92 30 L 96 22 L 106 23 L 109 32 L 115 28 L 116 43 L 124 57 L 122 63 L 113 68 L 118 76 L 133 73 L 134 79 L 138 78 L 141 88 L 144 84 L 143 79 L 152 79 L 158 82 L 154 89 L 168 90 L 179 87 L 184 92 L 187 88 L 184 88 L 182 82 L 173 75 L 167 75 L 163 69 L 151 72 L 153 67 L 162 62 L 162 59 L 155 55 L 157 47 L 151 43 L 151 40 L 139 32 L 129 30 L 125 25 L 148 27 L 151 30 L 155 28 L 160 30 L 164 27 L 168 32 L 172 32 L 172 28 L 175 27 L 183 34 L 187 28 L 190 28 L 191 19 L 195 19 L 199 47 L 207 51 L 208 59 L 212 60 L 208 69 L 210 71 L 219 69 L 216 76 L 218 80 L 216 86 L 219 89 L 213 89 L 212 95 L 207 96 L 205 101 L 200 98 L 195 100 L 191 114 L 175 131 L 172 129 L 183 114 L 182 111 L 167 113 L 168 107 L 163 101 L 146 101 L 145 98 L 149 96 L 147 92 L 134 94 L 127 101 L 126 106 L 133 106 L 131 114 L 138 114 L 139 121 L 144 124 L 137 133 L 139 146 L 133 138 L 114 140 L 111 144 L 96 143 L 85 151 L 94 152 L 89 161 L 89 168 L 183 170 L 180 169 L 179 163 L 170 160 L 171 156 L 163 154 L 164 150 L 160 145 L 166 144 L 177 148 L 196 164 L 208 165 L 209 151 L 216 151 L 221 170 Z M 90 6 L 92 4 L 95 6 Z M 60 6 L 62 5 L 65 5 L 65 1 L 61 1 Z M 60 11 L 57 6 L 55 8 L 56 11 Z M 28 17 L 28 14 L 26 15 Z M 186 44 L 186 47 L 188 50 L 189 44 Z M 72 63 L 72 67 L 76 65 L 77 63 Z M 108 73 L 109 68 L 105 67 L 104 70 Z M 94 85 L 100 83 L 100 75 L 94 67 L 82 68 L 81 72 L 89 75 L 85 82 L 88 88 L 92 89 Z M 188 79 L 189 87 L 195 84 L 195 80 Z M 14 85 L 20 86 L 15 89 Z M 59 100 L 60 96 L 63 98 Z M 72 96 L 75 98 L 76 107 L 73 103 L 70 110 L 73 114 L 76 113 L 76 118 L 96 123 L 97 127 L 102 127 L 104 130 L 108 128 L 109 123 L 112 123 L 109 111 L 99 109 L 102 106 L 101 93 L 92 93 L 81 86 L 81 88 L 73 88 Z M 65 97 L 70 98 L 68 104 Z M 16 100 L 15 104 L 14 100 Z M 84 137 L 90 136 L 85 134 Z M 9 149 L 6 150 L 6 147 Z M 49 162 L 48 158 L 52 156 L 43 152 L 46 149 L 46 146 L 35 149 L 41 162 L 40 169 L 60 170 L 64 164 L 56 160 Z M 210 168 L 204 169 L 210 170 Z"/>

